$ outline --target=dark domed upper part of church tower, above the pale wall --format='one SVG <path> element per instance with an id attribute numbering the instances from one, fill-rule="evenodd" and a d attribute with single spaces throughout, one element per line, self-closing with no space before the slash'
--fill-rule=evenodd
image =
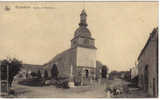
<path id="1" fill-rule="evenodd" d="M 76 29 L 74 38 L 71 40 L 71 48 L 81 46 L 85 48 L 96 49 L 95 39 L 92 38 L 87 26 L 87 14 L 85 10 L 82 10 L 80 14 L 79 28 Z"/>

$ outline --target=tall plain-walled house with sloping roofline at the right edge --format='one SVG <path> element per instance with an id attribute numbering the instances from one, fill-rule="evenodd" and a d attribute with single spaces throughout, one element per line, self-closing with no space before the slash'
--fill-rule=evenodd
<path id="1" fill-rule="evenodd" d="M 138 57 L 138 86 L 148 95 L 158 96 L 158 28 L 149 36 Z"/>

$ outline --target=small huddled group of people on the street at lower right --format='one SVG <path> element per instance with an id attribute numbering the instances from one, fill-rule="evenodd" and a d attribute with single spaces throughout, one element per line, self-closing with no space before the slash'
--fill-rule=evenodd
<path id="1" fill-rule="evenodd" d="M 119 95 L 122 93 L 122 91 L 118 88 L 107 88 L 106 89 L 106 92 L 107 92 L 107 97 L 110 98 L 110 97 L 114 97 L 116 95 Z"/>

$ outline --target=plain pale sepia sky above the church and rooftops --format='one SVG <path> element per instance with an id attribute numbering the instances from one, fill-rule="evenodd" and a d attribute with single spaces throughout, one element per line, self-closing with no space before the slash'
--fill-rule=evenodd
<path id="1" fill-rule="evenodd" d="M 110 70 L 134 67 L 158 26 L 158 2 L 1 2 L 0 59 L 48 62 L 70 48 L 84 8 L 97 60 Z"/>

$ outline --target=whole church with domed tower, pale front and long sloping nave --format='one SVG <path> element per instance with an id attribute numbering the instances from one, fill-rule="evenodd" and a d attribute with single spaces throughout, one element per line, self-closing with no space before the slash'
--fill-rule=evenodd
<path id="1" fill-rule="evenodd" d="M 71 40 L 71 47 L 44 64 L 49 75 L 53 64 L 56 64 L 58 77 L 67 77 L 75 84 L 88 84 L 100 77 L 102 64 L 96 60 L 95 39 L 87 26 L 87 14 L 82 10 L 79 27 Z"/>

